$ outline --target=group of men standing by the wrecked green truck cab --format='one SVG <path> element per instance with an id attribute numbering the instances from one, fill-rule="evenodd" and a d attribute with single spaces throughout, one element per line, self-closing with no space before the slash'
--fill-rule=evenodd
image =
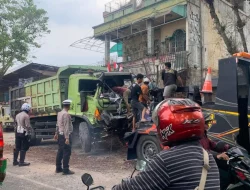
<path id="1" fill-rule="evenodd" d="M 183 81 L 177 71 L 171 68 L 171 63 L 165 63 L 165 69 L 162 70 L 162 81 L 164 84 L 163 97 L 165 99 L 174 96 L 177 90 L 177 81 L 183 86 Z M 137 74 L 135 82 L 131 87 L 113 87 L 112 90 L 123 97 L 128 110 L 128 114 L 133 112 L 133 130 L 136 123 L 147 121 L 146 114 L 150 113 L 150 94 L 149 90 L 156 88 L 154 80 L 149 80 L 143 74 Z M 129 105 L 129 97 L 131 98 L 131 108 Z"/>

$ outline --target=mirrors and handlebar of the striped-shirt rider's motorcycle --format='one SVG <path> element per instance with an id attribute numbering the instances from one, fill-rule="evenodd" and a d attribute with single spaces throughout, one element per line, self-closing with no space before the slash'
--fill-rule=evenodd
<path id="1" fill-rule="evenodd" d="M 122 179 L 122 183 L 131 179 L 136 171 L 138 171 L 138 172 L 144 171 L 146 168 L 146 164 L 147 163 L 143 160 L 137 160 L 137 163 L 135 165 L 135 169 L 132 172 L 131 176 L 129 178 Z M 85 173 L 82 175 L 81 178 L 82 178 L 83 184 L 87 186 L 87 190 L 105 190 L 105 187 L 103 187 L 103 186 L 90 188 L 90 186 L 93 185 L 93 183 L 94 183 L 94 180 L 90 174 Z"/>

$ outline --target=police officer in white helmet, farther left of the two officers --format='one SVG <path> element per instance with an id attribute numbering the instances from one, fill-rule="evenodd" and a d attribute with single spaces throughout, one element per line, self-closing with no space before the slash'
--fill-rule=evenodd
<path id="1" fill-rule="evenodd" d="M 30 163 L 24 162 L 26 152 L 29 149 L 29 134 L 31 131 L 30 126 L 30 117 L 29 113 L 31 106 L 27 103 L 24 103 L 21 107 L 21 112 L 16 115 L 16 129 L 15 129 L 15 149 L 14 149 L 14 166 L 29 166 Z M 20 152 L 20 162 L 18 162 L 18 155 Z"/>

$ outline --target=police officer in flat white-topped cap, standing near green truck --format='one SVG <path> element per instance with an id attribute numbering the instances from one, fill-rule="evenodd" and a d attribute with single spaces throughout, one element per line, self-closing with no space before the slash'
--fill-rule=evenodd
<path id="1" fill-rule="evenodd" d="M 68 111 L 70 109 L 71 100 L 64 100 L 63 110 L 57 115 L 57 130 L 54 139 L 58 140 L 58 152 L 56 157 L 56 173 L 63 172 L 64 175 L 74 174 L 69 170 L 69 160 L 71 155 L 71 134 L 73 125 L 71 116 Z M 63 169 L 62 169 L 63 161 Z"/>

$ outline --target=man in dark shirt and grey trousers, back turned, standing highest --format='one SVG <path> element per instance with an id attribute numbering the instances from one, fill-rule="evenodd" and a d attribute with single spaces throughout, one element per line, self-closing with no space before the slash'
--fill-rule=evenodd
<path id="1" fill-rule="evenodd" d="M 181 86 L 183 82 L 180 76 L 178 76 L 177 71 L 171 69 L 171 63 L 165 63 L 165 69 L 162 71 L 162 80 L 164 83 L 163 96 L 165 99 L 172 98 L 177 90 L 176 81 L 179 80 Z"/>

